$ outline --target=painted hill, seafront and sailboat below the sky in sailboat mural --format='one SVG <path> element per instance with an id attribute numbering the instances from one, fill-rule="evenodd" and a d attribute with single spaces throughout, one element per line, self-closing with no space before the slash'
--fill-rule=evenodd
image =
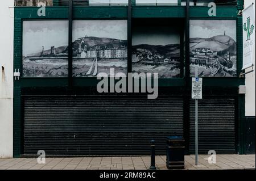
<path id="1" fill-rule="evenodd" d="M 127 40 L 81 37 L 73 42 L 73 76 L 109 75 L 110 68 L 127 74 Z"/>

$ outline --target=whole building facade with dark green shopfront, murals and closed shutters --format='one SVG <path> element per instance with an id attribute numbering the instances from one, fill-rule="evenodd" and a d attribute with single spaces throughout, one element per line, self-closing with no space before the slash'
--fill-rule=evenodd
<path id="1" fill-rule="evenodd" d="M 1 6 L 8 14 L 1 18 L 14 32 L 1 30 L 9 35 L 1 41 L 9 58 L 1 61 L 0 112 L 5 116 L 0 157 L 38 150 L 47 155 L 147 155 L 152 139 L 156 154 L 165 154 L 167 136 L 184 137 L 186 154 L 193 154 L 195 66 L 203 77 L 199 153 L 255 153 L 255 131 L 246 131 L 255 127 L 255 111 L 247 110 L 255 110 L 255 96 L 250 101 L 255 80 L 247 86 L 247 77 L 239 76 L 243 1 L 225 6 L 213 1 L 216 16 L 209 16 L 207 1 L 190 6 L 180 0 L 129 2 Z M 99 93 L 97 74 L 109 75 L 112 68 L 115 73 L 158 73 L 158 98 L 147 99 L 141 91 Z M 13 77 L 15 70 L 19 77 Z M 240 94 L 243 85 L 246 94 Z"/>

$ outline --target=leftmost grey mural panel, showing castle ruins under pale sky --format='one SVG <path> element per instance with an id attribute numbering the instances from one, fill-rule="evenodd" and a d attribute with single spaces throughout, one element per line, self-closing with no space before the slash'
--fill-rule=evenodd
<path id="1" fill-rule="evenodd" d="M 23 22 L 23 77 L 68 77 L 68 22 Z"/>

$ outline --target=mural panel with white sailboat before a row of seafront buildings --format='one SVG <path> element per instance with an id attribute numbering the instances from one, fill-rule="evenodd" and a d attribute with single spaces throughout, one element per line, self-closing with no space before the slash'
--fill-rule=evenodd
<path id="1" fill-rule="evenodd" d="M 127 74 L 127 21 L 73 21 L 73 77 Z"/>

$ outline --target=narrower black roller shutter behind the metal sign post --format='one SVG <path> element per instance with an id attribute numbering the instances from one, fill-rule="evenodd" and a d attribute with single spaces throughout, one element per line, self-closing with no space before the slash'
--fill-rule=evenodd
<path id="1" fill-rule="evenodd" d="M 190 102 L 190 147 L 195 154 L 195 100 Z M 204 96 L 199 100 L 199 153 L 235 153 L 235 99 Z"/>

